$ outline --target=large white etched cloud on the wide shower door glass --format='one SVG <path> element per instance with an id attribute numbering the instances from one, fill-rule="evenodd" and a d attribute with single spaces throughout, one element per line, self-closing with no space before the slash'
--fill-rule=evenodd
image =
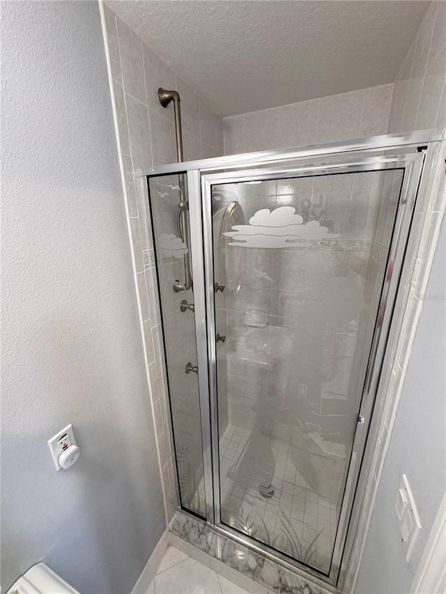
<path id="1" fill-rule="evenodd" d="M 234 225 L 233 230 L 224 235 L 232 237 L 228 245 L 272 248 L 293 247 L 302 240 L 339 237 L 328 233 L 328 228 L 318 221 L 304 224 L 292 206 L 279 206 L 275 210 L 262 208 L 249 219 L 249 225 Z"/>

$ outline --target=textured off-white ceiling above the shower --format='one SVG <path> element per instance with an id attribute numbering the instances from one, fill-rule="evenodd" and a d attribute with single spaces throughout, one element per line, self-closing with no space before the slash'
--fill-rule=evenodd
<path id="1" fill-rule="evenodd" d="M 394 81 L 429 8 L 415 0 L 107 3 L 222 116 Z"/>

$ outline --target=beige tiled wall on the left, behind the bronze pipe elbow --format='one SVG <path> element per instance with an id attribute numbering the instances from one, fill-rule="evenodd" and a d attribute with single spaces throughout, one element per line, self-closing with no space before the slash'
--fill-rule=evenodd
<path id="1" fill-rule="evenodd" d="M 174 107 L 172 104 L 167 108 L 161 106 L 157 98 L 160 86 L 180 93 L 185 160 L 222 155 L 223 124 L 197 93 L 108 6 L 103 3 L 100 6 L 150 386 L 148 399 L 151 398 L 153 407 L 169 522 L 177 506 L 176 479 L 151 220 L 146 187 L 139 173 L 177 159 Z"/>

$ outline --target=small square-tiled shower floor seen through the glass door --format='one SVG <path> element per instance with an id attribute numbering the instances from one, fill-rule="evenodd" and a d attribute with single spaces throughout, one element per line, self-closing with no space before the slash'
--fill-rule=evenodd
<path id="1" fill-rule="evenodd" d="M 327 570 L 336 536 L 337 510 L 312 490 L 291 462 L 293 447 L 270 438 L 275 458 L 274 494 L 263 497 L 237 474 L 252 431 L 234 425 L 220 439 L 222 522 Z"/>

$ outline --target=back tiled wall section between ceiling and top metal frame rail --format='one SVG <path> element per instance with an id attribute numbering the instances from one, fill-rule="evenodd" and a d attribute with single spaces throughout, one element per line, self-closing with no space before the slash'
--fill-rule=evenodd
<path id="1" fill-rule="evenodd" d="M 224 118 L 224 154 L 385 134 L 392 90 L 386 84 Z"/>

